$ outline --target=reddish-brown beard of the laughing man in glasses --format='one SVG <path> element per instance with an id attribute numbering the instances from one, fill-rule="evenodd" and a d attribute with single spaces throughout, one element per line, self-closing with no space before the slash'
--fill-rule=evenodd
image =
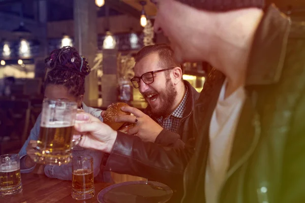
<path id="1" fill-rule="evenodd" d="M 177 90 L 170 79 L 166 80 L 166 87 L 164 91 L 158 92 L 162 105 L 158 109 L 150 108 L 151 116 L 155 118 L 167 117 L 172 113 L 171 108 L 177 97 Z"/>

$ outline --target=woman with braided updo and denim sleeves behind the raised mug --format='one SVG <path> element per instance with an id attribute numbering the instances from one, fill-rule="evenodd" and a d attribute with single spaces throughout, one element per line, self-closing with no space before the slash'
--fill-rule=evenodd
<path id="1" fill-rule="evenodd" d="M 84 81 L 86 75 L 90 73 L 90 67 L 86 58 L 80 56 L 74 47 L 64 47 L 52 51 L 49 57 L 46 58 L 46 70 L 47 75 L 44 82 L 45 98 L 75 101 L 79 109 L 102 120 L 100 116 L 101 110 L 87 107 L 82 102 L 85 91 Z M 37 145 L 40 122 L 41 114 L 38 116 L 28 139 L 19 152 L 21 173 L 30 173 L 36 167 L 36 163 L 33 161 L 35 156 L 33 147 Z M 94 159 L 94 175 L 97 176 L 99 174 L 103 154 L 80 147 L 73 149 L 72 154 L 92 156 Z M 38 173 L 45 174 L 49 178 L 72 179 L 71 163 L 60 166 L 46 165 L 44 168 L 40 165 L 36 169 Z"/>

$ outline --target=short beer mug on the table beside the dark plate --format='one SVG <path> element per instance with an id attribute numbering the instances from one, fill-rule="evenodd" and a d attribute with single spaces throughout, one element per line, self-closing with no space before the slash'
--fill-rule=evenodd
<path id="1" fill-rule="evenodd" d="M 75 156 L 72 159 L 72 197 L 78 200 L 95 195 L 92 156 Z"/>

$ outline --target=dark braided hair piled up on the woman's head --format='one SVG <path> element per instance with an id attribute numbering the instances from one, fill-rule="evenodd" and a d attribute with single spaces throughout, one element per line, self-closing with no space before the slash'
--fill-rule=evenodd
<path id="1" fill-rule="evenodd" d="M 64 85 L 70 94 L 78 97 L 85 93 L 85 77 L 90 67 L 85 57 L 74 47 L 53 50 L 45 59 L 47 73 L 44 85 Z"/>

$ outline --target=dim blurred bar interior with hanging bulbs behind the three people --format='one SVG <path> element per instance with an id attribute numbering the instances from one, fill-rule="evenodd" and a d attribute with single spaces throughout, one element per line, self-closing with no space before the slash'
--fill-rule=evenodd
<path id="1" fill-rule="evenodd" d="M 305 1 L 272 2 L 305 21 Z M 153 31 L 156 12 L 139 0 L 0 0 L 0 86 L 14 78 L 11 92 L 0 94 L 0 154 L 18 152 L 26 140 L 41 111 L 44 58 L 63 46 L 75 46 L 93 69 L 85 82 L 88 106 L 106 109 L 121 100 L 144 109 L 129 80 L 139 49 L 168 43 Z M 184 66 L 184 79 L 201 91 L 211 66 Z"/>

